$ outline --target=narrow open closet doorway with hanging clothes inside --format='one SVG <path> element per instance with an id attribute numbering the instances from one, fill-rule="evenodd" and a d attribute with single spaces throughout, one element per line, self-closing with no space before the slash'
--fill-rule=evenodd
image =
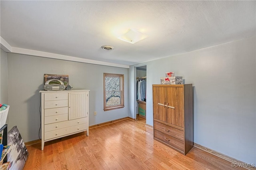
<path id="1" fill-rule="evenodd" d="M 147 66 L 136 67 L 136 117 L 146 119 Z"/>

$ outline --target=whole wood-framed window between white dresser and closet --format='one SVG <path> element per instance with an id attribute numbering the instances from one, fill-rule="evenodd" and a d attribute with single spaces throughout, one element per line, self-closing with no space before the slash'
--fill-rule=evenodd
<path id="1" fill-rule="evenodd" d="M 124 75 L 104 73 L 104 111 L 124 108 Z"/>

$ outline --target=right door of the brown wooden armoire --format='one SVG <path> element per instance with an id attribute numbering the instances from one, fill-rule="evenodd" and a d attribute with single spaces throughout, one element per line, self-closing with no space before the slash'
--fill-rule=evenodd
<path id="1" fill-rule="evenodd" d="M 166 87 L 166 122 L 184 128 L 184 89 Z"/>

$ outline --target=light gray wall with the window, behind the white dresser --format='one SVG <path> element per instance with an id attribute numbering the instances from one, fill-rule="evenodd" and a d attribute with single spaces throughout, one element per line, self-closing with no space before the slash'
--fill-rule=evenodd
<path id="1" fill-rule="evenodd" d="M 128 117 L 128 69 L 7 53 L 9 127 L 17 125 L 24 142 L 38 139 L 43 76 L 69 75 L 73 89 L 89 89 L 89 126 Z M 122 109 L 103 111 L 103 73 L 124 74 Z M 94 111 L 97 115 L 94 116 Z M 41 133 L 41 132 L 40 132 Z M 41 135 L 40 135 L 41 136 Z"/>

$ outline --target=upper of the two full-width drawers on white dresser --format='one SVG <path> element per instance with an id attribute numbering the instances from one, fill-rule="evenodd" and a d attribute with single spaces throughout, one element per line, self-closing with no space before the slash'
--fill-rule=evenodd
<path id="1" fill-rule="evenodd" d="M 61 128 L 66 128 L 66 127 L 72 127 L 75 125 L 80 125 L 87 123 L 87 118 L 80 118 L 80 119 L 74 119 L 71 121 L 63 121 L 63 122 L 58 122 L 58 123 L 51 123 L 48 125 L 44 125 L 44 132 L 52 131 L 52 130 L 58 130 Z"/>

